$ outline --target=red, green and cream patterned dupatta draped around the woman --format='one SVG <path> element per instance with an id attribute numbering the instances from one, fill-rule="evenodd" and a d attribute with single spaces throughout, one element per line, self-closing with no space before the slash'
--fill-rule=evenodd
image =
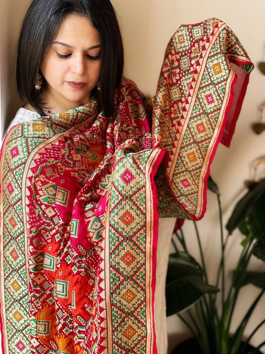
<path id="1" fill-rule="evenodd" d="M 152 130 L 127 79 L 97 103 L 15 125 L 0 191 L 4 354 L 156 354 L 158 217 L 200 219 L 217 144 L 230 143 L 253 64 L 217 19 L 182 25 Z M 163 163 L 162 163 L 163 160 Z"/>

